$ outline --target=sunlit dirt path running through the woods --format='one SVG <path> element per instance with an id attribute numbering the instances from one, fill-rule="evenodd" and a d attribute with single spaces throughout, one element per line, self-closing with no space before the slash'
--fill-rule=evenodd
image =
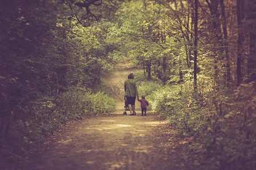
<path id="1" fill-rule="evenodd" d="M 135 68 L 118 68 L 109 78 L 117 110 L 63 128 L 19 169 L 195 169 L 187 142 L 158 114 L 140 116 L 137 103 L 137 116 L 123 116 L 121 84 Z"/>

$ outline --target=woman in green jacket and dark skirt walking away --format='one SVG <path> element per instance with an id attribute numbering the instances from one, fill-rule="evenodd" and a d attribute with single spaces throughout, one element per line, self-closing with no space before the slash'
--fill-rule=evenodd
<path id="1" fill-rule="evenodd" d="M 134 81 L 134 74 L 130 73 L 128 79 L 125 80 L 125 96 L 129 106 L 130 116 L 136 115 L 135 112 L 135 99 L 139 98 L 136 83 Z"/>

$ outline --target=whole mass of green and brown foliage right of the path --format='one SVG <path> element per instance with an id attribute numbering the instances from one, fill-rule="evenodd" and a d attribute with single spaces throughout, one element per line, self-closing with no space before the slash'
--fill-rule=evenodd
<path id="1" fill-rule="evenodd" d="M 243 32 L 249 28 L 247 24 L 255 23 L 250 18 L 255 4 L 241 3 L 248 9 L 241 12 L 245 16 Z M 179 135 L 193 136 L 200 151 L 216 156 L 216 169 L 255 167 L 255 84 L 250 83 L 255 72 L 251 59 L 255 56 L 255 35 L 244 32 L 247 40 L 238 41 L 246 54 L 237 52 L 235 39 L 240 31 L 230 22 L 232 15 L 225 16 L 235 5 L 209 1 L 199 8 L 196 90 L 193 1 L 129 1 L 118 10 L 127 56 L 143 67 L 146 75 L 166 84 L 148 82 L 146 75 L 139 73 L 139 94 L 146 94 L 150 109 L 166 115 Z M 237 56 L 245 62 L 236 63 Z M 244 84 L 235 90 L 239 65 Z"/>

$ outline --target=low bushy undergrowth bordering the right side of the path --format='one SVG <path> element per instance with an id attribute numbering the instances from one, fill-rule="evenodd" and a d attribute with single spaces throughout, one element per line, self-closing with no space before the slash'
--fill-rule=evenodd
<path id="1" fill-rule="evenodd" d="M 256 167 L 255 87 L 252 82 L 234 90 L 199 86 L 194 91 L 192 82 L 138 81 L 148 109 L 166 116 L 177 135 L 193 137 L 191 150 L 214 158 L 209 164 L 214 169 Z"/>

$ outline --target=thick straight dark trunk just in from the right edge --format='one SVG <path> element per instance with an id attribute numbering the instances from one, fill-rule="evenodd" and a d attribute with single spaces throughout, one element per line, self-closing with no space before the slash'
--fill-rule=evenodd
<path id="1" fill-rule="evenodd" d="M 238 25 L 238 40 L 237 40 L 237 86 L 242 82 L 242 71 L 241 71 L 241 62 L 242 62 L 242 41 L 243 41 L 243 32 L 242 32 L 242 1 L 237 0 L 237 25 Z"/>

